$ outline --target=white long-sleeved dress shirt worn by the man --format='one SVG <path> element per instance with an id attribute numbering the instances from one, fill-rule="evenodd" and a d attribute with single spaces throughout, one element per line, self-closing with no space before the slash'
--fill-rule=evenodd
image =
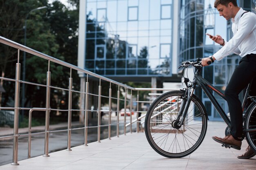
<path id="1" fill-rule="evenodd" d="M 221 60 L 230 53 L 239 54 L 241 57 L 247 54 L 256 54 L 256 15 L 244 12 L 245 10 L 240 8 L 235 18 L 231 19 L 234 36 L 213 55 L 216 60 Z"/>

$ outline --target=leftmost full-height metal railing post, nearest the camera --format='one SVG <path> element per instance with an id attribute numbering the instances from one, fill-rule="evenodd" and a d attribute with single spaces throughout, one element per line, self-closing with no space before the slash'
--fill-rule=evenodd
<path id="1" fill-rule="evenodd" d="M 13 122 L 13 135 L 18 135 L 19 128 L 19 112 L 20 107 L 20 63 L 16 63 L 16 76 L 15 76 L 15 98 L 14 98 L 14 122 Z M 18 163 L 18 136 L 13 137 L 13 159 L 11 165 L 19 165 Z"/>

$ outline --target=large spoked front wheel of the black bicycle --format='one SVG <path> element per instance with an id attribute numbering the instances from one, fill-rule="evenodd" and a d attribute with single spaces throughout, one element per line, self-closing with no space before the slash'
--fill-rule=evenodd
<path id="1" fill-rule="evenodd" d="M 200 146 L 206 134 L 206 109 L 195 95 L 183 125 L 180 128 L 174 125 L 184 98 L 184 91 L 164 93 L 157 97 L 147 111 L 147 140 L 150 146 L 164 157 L 181 158 L 191 154 Z"/>

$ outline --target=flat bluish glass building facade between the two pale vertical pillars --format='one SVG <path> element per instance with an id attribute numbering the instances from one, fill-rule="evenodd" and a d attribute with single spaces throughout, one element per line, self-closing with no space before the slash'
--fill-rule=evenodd
<path id="1" fill-rule="evenodd" d="M 173 0 L 87 0 L 85 69 L 171 77 Z"/>

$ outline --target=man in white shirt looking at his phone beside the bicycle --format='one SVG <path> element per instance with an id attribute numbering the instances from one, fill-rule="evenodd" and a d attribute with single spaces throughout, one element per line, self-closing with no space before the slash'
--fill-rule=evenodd
<path id="1" fill-rule="evenodd" d="M 242 59 L 225 90 L 231 118 L 231 135 L 224 138 L 212 138 L 221 144 L 228 144 L 240 150 L 242 144 L 240 139 L 243 135 L 243 111 L 238 95 L 256 77 L 256 15 L 238 7 L 236 0 L 215 0 L 214 7 L 219 11 L 220 16 L 226 20 L 231 19 L 234 36 L 229 42 L 226 42 L 220 35 L 210 36 L 214 42 L 223 47 L 214 55 L 203 58 L 202 65 L 208 66 L 207 62 L 221 60 L 230 53 L 239 54 Z M 251 89 L 255 91 L 256 81 L 253 82 Z M 255 93 L 254 91 L 252 93 Z M 254 150 L 248 147 L 247 152 L 239 155 L 238 158 L 249 159 L 253 156 L 255 156 Z"/>

